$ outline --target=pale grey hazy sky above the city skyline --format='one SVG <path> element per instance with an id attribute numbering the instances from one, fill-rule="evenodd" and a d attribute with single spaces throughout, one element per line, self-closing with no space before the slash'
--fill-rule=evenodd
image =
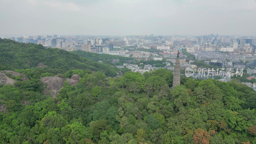
<path id="1" fill-rule="evenodd" d="M 0 0 L 0 36 L 256 35 L 256 0 Z"/>

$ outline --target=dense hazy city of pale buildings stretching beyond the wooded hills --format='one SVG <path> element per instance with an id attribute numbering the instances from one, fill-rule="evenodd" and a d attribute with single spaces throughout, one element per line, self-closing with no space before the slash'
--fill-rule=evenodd
<path id="1" fill-rule="evenodd" d="M 131 60 L 111 59 L 117 68 L 133 72 L 174 70 L 177 52 L 180 53 L 181 74 L 185 68 L 194 69 L 192 77 L 230 81 L 234 76 L 256 90 L 256 36 L 21 36 L 6 37 L 20 43 L 42 44 L 66 51 L 118 55 Z M 108 60 L 109 61 L 109 60 Z M 102 59 L 98 59 L 102 62 Z M 213 69 L 212 69 L 213 68 Z M 223 69 L 224 68 L 224 69 Z M 214 73 L 212 74 L 212 71 Z M 222 71 L 222 73 L 220 72 Z M 246 77 L 246 79 L 245 79 Z"/>

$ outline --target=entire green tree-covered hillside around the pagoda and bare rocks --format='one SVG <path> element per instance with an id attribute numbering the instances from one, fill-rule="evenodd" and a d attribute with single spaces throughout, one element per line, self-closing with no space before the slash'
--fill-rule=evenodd
<path id="1" fill-rule="evenodd" d="M 0 112 L 0 143 L 256 143 L 256 92 L 237 79 L 223 83 L 182 76 L 181 85 L 170 89 L 173 76 L 165 69 L 114 78 L 104 74 L 108 67 L 100 70 L 70 52 L 11 40 L 0 44 L 6 62 L 0 62 L 1 69 L 30 78 L 0 84 L 0 111 L 6 106 Z M 67 66 L 55 63 L 58 59 Z M 36 68 L 38 62 L 47 67 Z M 84 65 L 98 72 L 79 69 Z M 82 78 L 74 86 L 64 81 L 53 98 L 42 94 L 47 85 L 39 80 L 50 70 Z"/>

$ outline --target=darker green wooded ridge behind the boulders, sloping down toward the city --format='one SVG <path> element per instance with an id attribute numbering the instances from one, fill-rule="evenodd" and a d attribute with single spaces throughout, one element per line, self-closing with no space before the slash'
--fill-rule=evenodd
<path id="1" fill-rule="evenodd" d="M 52 74 L 64 73 L 70 69 L 89 69 L 101 71 L 106 76 L 116 76 L 120 71 L 114 66 L 94 62 L 75 53 L 0 38 L 0 70 L 15 69 L 36 69 L 39 73 Z"/>

